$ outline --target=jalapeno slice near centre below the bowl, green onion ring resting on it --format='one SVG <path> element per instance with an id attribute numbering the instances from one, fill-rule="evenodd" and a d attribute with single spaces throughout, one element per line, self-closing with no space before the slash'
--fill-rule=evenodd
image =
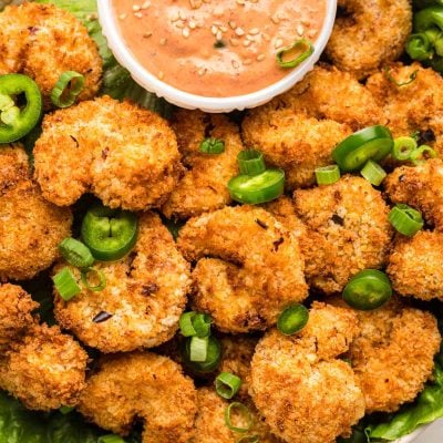
<path id="1" fill-rule="evenodd" d="M 258 205 L 278 198 L 285 189 L 285 173 L 266 169 L 254 177 L 237 175 L 228 183 L 230 197 L 239 203 Z"/>

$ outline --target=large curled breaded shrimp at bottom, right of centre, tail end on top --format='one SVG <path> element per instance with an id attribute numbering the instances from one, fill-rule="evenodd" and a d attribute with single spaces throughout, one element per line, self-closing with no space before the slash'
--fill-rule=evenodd
<path id="1" fill-rule="evenodd" d="M 315 302 L 301 333 L 271 330 L 259 341 L 250 391 L 272 433 L 288 443 L 332 443 L 351 433 L 364 396 L 339 357 L 357 333 L 356 313 Z"/>

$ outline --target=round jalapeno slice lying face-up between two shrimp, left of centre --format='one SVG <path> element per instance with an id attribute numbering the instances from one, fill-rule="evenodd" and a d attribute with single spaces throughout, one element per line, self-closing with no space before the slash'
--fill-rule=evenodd
<path id="1" fill-rule="evenodd" d="M 82 223 L 82 239 L 93 257 L 101 261 L 119 260 L 137 240 L 137 216 L 128 210 L 93 206 Z"/>

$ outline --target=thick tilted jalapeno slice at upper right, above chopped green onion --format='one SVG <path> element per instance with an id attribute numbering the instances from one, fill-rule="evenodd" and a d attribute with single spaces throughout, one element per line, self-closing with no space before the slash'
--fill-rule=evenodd
<path id="1" fill-rule="evenodd" d="M 391 131 L 375 125 L 358 131 L 344 138 L 332 152 L 332 158 L 341 171 L 359 171 L 369 161 L 382 161 L 393 147 Z"/>

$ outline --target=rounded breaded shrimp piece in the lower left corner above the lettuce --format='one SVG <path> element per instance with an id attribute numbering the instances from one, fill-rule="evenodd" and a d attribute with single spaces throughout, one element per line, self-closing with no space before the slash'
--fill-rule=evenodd
<path id="1" fill-rule="evenodd" d="M 0 388 L 29 409 L 73 406 L 85 387 L 87 354 L 60 328 L 33 326 L 0 359 Z"/>

